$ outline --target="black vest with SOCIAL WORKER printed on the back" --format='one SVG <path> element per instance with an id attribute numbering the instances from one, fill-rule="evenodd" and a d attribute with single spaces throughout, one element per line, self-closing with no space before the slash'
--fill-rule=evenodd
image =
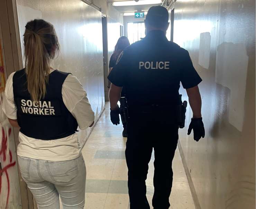
<path id="1" fill-rule="evenodd" d="M 62 85 L 69 73 L 58 70 L 49 75 L 46 95 L 39 103 L 31 100 L 25 69 L 13 75 L 13 95 L 17 106 L 20 132 L 28 137 L 52 140 L 70 136 L 77 130 L 77 121 L 62 99 Z"/>

